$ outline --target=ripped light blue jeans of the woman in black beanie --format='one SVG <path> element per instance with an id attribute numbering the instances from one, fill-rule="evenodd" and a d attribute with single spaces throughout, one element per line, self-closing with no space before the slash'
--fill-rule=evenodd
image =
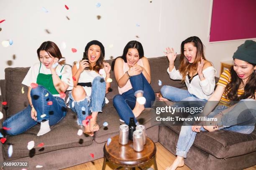
<path id="1" fill-rule="evenodd" d="M 90 99 L 85 97 L 83 100 L 75 101 L 72 93 L 69 93 L 69 106 L 73 112 L 77 113 L 78 125 L 82 125 L 82 121 L 85 120 L 89 113 L 102 112 L 102 107 L 105 105 L 106 82 L 101 79 L 101 76 L 93 79 Z M 74 107 L 72 107 L 72 102 L 74 102 Z M 83 110 L 82 107 L 84 107 Z"/>

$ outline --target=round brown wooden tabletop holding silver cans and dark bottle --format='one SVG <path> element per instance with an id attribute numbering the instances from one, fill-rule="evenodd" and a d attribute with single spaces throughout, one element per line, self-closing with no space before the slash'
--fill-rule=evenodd
<path id="1" fill-rule="evenodd" d="M 129 140 L 128 144 L 121 145 L 119 143 L 119 135 L 111 138 L 111 143 L 104 146 L 104 156 L 107 160 L 123 166 L 142 165 L 156 155 L 155 143 L 147 138 L 146 145 L 141 152 L 133 150 L 133 141 Z"/>

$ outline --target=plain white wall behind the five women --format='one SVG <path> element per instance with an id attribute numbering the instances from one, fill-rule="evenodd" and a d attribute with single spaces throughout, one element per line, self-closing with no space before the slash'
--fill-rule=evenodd
<path id="1" fill-rule="evenodd" d="M 166 46 L 180 53 L 182 40 L 196 35 L 204 43 L 205 55 L 215 65 L 218 75 L 220 60 L 231 59 L 238 45 L 244 42 L 209 43 L 211 0 L 152 1 L 0 0 L 0 20 L 6 20 L 0 24 L 0 42 L 13 40 L 9 47 L 0 45 L 0 79 L 4 79 L 5 67 L 29 67 L 38 62 L 36 50 L 47 40 L 56 42 L 71 64 L 82 57 L 85 45 L 94 39 L 103 43 L 105 59 L 110 59 L 120 56 L 130 40 L 142 43 L 146 57 L 164 55 Z M 101 3 L 100 7 L 96 7 L 97 2 Z M 49 12 L 45 13 L 42 7 Z M 97 15 L 101 15 L 100 20 Z M 62 42 L 66 42 L 66 49 L 61 48 Z M 76 53 L 71 51 L 73 47 Z M 13 61 L 11 66 L 7 65 L 8 60 Z"/>

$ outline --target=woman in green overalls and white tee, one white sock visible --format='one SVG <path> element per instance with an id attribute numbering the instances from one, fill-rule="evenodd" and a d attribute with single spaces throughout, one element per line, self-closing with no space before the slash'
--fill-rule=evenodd
<path id="1" fill-rule="evenodd" d="M 28 86 L 29 105 L 9 117 L 3 126 L 9 135 L 18 135 L 40 123 L 37 136 L 48 133 L 49 125 L 55 125 L 66 116 L 66 104 L 61 93 L 73 87 L 72 72 L 58 46 L 51 41 L 43 42 L 37 50 L 40 62 L 30 67 L 22 84 Z"/>

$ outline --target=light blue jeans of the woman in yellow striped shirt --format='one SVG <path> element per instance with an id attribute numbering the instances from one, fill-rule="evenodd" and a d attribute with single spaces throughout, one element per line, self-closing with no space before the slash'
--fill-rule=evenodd
<path id="1" fill-rule="evenodd" d="M 223 130 L 230 130 L 230 131 L 244 133 L 244 134 L 249 134 L 253 132 L 255 127 L 254 126 L 255 122 L 251 123 L 250 125 L 237 125 L 237 122 L 240 122 L 241 124 L 241 123 L 250 121 L 251 117 L 248 117 L 248 119 L 246 120 L 245 117 L 237 116 L 236 114 L 234 114 L 235 112 L 242 113 L 243 110 L 250 109 L 251 111 L 249 112 L 253 113 L 255 117 L 256 115 L 255 103 L 254 105 L 246 105 L 246 107 L 244 107 L 245 101 L 248 101 L 248 100 L 251 100 L 251 99 L 240 100 L 240 102 L 238 102 L 236 107 L 234 107 L 232 110 L 230 110 L 229 112 L 223 115 L 221 120 L 221 122 L 225 122 L 225 126 Z M 220 113 L 221 111 L 227 108 L 228 108 L 227 106 L 218 105 L 217 107 L 215 107 L 215 110 L 213 110 L 207 117 L 215 117 L 215 115 L 218 115 L 218 113 Z M 240 108 L 239 111 L 237 111 L 238 108 Z M 243 114 L 247 115 L 248 113 L 243 112 Z M 201 127 L 200 130 L 203 131 L 205 129 Z M 191 146 L 193 145 L 196 135 L 197 135 L 197 132 L 193 132 L 191 126 L 184 124 L 179 133 L 179 140 L 177 143 L 176 155 L 181 156 L 183 158 L 187 158 L 187 153 L 191 148 Z"/>

